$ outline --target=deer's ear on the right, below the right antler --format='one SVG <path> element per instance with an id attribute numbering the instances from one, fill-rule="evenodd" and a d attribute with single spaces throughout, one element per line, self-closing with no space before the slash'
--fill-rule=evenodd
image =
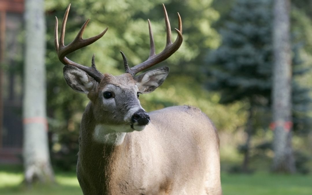
<path id="1" fill-rule="evenodd" d="M 150 93 L 163 84 L 168 73 L 169 67 L 163 66 L 140 74 L 139 76 L 136 76 L 134 80 L 137 82 L 136 85 L 139 87 L 140 93 Z"/>

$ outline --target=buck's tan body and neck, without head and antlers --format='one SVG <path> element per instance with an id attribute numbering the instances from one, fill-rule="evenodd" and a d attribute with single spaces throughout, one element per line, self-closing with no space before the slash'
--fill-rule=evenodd
<path id="1" fill-rule="evenodd" d="M 95 143 L 92 118 L 90 103 L 77 164 L 84 194 L 221 194 L 218 137 L 199 109 L 151 112 L 151 123 L 126 133 L 120 145 Z"/>

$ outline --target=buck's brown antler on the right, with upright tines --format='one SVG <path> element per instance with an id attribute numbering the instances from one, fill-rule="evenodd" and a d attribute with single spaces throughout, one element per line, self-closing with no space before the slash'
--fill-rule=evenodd
<path id="1" fill-rule="evenodd" d="M 181 22 L 181 17 L 178 13 L 178 19 L 179 19 L 179 29 L 175 30 L 178 32 L 178 37 L 177 39 L 172 43 L 171 42 L 171 27 L 170 27 L 170 22 L 168 19 L 168 14 L 165 8 L 165 5 L 163 4 L 163 12 L 165 15 L 165 23 L 166 23 L 166 31 L 167 31 L 167 43 L 165 48 L 163 49 L 162 52 L 160 52 L 159 54 L 156 55 L 155 53 L 155 45 L 154 45 L 154 37 L 153 37 L 153 32 L 152 32 L 152 28 L 151 28 L 151 22 L 149 21 L 149 41 L 150 41 L 150 52 L 149 52 L 149 58 L 142 62 L 141 64 L 138 64 L 132 68 L 128 67 L 128 64 L 124 64 L 126 72 L 132 74 L 132 76 L 134 76 L 135 74 L 137 74 L 138 72 L 141 72 L 151 66 L 154 66 L 156 64 L 158 64 L 159 62 L 162 62 L 164 60 L 166 60 L 168 57 L 170 57 L 175 51 L 177 51 L 179 49 L 179 47 L 182 44 L 183 41 L 183 36 L 182 36 L 182 22 Z M 122 53 L 123 55 L 123 53 Z M 124 62 L 125 60 L 125 56 L 123 55 L 124 58 Z"/>

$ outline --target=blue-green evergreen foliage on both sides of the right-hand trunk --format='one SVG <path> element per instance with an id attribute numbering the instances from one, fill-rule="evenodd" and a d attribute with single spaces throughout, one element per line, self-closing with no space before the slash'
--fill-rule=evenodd
<path id="1" fill-rule="evenodd" d="M 210 78 L 206 87 L 221 93 L 220 103 L 228 104 L 246 101 L 249 120 L 245 125 L 247 138 L 238 150 L 245 154 L 248 162 L 250 137 L 256 130 L 268 129 L 271 119 L 272 85 L 272 15 L 271 0 L 227 1 L 232 6 L 224 11 L 214 25 L 220 29 L 221 45 L 207 55 L 207 75 Z M 218 4 L 216 3 L 216 6 Z M 221 9 L 221 8 L 219 8 Z M 301 58 L 302 44 L 293 32 L 293 75 L 292 110 L 294 130 L 297 133 L 310 131 L 311 108 L 310 89 L 298 83 L 298 77 L 309 70 Z M 246 115 L 247 116 L 247 115 Z M 251 127 L 250 127 L 251 126 Z M 264 140 L 267 142 L 267 140 Z M 252 148 L 252 147 L 251 147 Z M 243 167 L 233 167 L 235 171 Z M 248 171 L 247 171 L 248 172 Z"/>

